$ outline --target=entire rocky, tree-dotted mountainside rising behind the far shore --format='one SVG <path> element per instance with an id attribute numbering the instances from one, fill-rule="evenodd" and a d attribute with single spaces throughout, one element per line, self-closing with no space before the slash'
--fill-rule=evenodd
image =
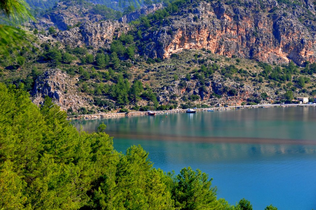
<path id="1" fill-rule="evenodd" d="M 314 6 L 177 0 L 115 16 L 91 3 L 59 2 L 25 25 L 38 50 L 21 51 L 14 76 L 6 66 L 0 78 L 25 83 L 34 103 L 48 95 L 64 110 L 89 113 L 313 97 Z"/>

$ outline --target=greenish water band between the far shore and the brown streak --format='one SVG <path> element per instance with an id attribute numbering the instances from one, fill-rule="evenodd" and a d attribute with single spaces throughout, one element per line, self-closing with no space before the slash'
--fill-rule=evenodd
<path id="1" fill-rule="evenodd" d="M 166 135 L 188 137 L 245 137 L 314 141 L 315 108 L 265 108 L 161 114 L 111 119 L 73 121 L 79 128 L 93 132 L 100 123 L 115 134 Z M 312 143 L 313 144 L 313 143 Z"/>

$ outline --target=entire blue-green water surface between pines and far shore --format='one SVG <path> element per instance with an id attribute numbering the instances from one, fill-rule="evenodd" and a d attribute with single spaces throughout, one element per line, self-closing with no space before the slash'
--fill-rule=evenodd
<path id="1" fill-rule="evenodd" d="M 316 209 L 316 108 L 252 108 L 73 121 L 104 123 L 114 148 L 142 145 L 155 168 L 191 166 L 214 178 L 217 197 L 254 210 Z"/>

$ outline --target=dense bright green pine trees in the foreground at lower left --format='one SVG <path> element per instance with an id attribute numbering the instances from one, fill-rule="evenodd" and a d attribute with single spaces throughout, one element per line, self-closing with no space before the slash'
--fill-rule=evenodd
<path id="1" fill-rule="evenodd" d="M 139 145 L 118 153 L 104 124 L 78 132 L 48 97 L 38 108 L 14 85 L 0 93 L 2 209 L 252 209 L 217 199 L 200 170 L 157 170 Z"/>

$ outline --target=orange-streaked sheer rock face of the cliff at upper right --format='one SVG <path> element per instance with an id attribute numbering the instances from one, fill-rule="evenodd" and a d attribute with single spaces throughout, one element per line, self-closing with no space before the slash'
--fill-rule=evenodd
<path id="1" fill-rule="evenodd" d="M 295 15 L 285 18 L 280 14 L 272 16 L 269 12 L 254 13 L 251 9 L 207 3 L 200 5 L 197 14 L 197 21 L 193 21 L 193 14 L 181 21 L 174 17 L 171 28 L 176 30 L 171 39 L 160 37 L 167 40 L 161 49 L 163 58 L 183 49 L 205 48 L 228 57 L 237 55 L 268 63 L 315 62 L 315 36 Z"/>

